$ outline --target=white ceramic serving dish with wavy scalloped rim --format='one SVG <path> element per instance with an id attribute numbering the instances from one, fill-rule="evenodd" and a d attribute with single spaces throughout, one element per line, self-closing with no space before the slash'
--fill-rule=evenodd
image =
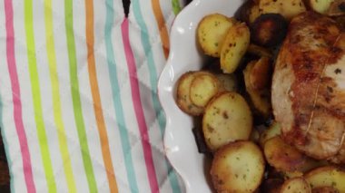
<path id="1" fill-rule="evenodd" d="M 206 14 L 232 16 L 243 0 L 194 0 L 173 22 L 171 50 L 160 76 L 158 94 L 165 111 L 164 150 L 173 168 L 181 175 L 186 192 L 212 192 L 206 179 L 205 159 L 198 153 L 192 135 L 192 117 L 176 105 L 175 84 L 184 72 L 200 70 L 205 57 L 196 43 L 196 28 Z"/>

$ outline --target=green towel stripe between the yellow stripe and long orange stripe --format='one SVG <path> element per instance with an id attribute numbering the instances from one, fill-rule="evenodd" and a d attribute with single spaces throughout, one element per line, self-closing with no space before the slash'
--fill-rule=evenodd
<path id="1" fill-rule="evenodd" d="M 70 63 L 71 92 L 74 107 L 75 124 L 78 132 L 79 143 L 82 148 L 81 151 L 84 162 L 86 179 L 88 182 L 90 192 L 94 193 L 97 192 L 97 184 L 94 179 L 94 169 L 92 160 L 90 158 L 90 151 L 86 138 L 82 103 L 80 101 L 79 82 L 77 76 L 78 72 L 75 56 L 75 41 L 73 27 L 73 0 L 64 0 L 64 20 L 67 36 L 68 58 Z"/>

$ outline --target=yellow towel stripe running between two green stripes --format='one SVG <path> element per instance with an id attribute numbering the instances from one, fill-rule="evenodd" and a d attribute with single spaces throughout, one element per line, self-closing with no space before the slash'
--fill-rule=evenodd
<path id="1" fill-rule="evenodd" d="M 49 72 L 53 91 L 54 121 L 57 128 L 60 151 L 64 161 L 64 175 L 67 181 L 69 192 L 76 192 L 74 174 L 71 165 L 71 158 L 68 152 L 64 121 L 61 112 L 59 79 L 56 72 L 56 56 L 54 49 L 53 14 L 52 0 L 44 0 L 45 38 L 46 51 L 48 54 Z"/>

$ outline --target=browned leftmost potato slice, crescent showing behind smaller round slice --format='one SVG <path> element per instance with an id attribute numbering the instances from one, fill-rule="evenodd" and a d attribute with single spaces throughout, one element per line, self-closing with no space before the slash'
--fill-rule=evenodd
<path id="1" fill-rule="evenodd" d="M 186 72 L 182 74 L 177 82 L 176 103 L 177 106 L 185 113 L 198 116 L 203 112 L 203 108 L 194 105 L 191 101 L 191 85 L 196 74 L 203 72 Z"/>

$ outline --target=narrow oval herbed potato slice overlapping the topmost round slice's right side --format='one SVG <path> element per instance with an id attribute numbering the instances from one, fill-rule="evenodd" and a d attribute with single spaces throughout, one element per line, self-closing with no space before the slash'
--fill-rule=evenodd
<path id="1" fill-rule="evenodd" d="M 221 69 L 224 73 L 232 73 L 239 66 L 246 53 L 251 33 L 245 23 L 234 24 L 228 31 L 221 50 Z"/>

